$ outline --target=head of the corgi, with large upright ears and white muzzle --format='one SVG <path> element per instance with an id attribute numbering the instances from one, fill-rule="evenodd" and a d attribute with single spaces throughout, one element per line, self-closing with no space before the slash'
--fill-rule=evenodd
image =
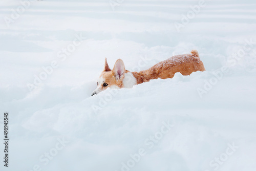
<path id="1" fill-rule="evenodd" d="M 117 59 L 113 70 L 110 69 L 105 59 L 105 66 L 97 81 L 97 88 L 92 96 L 106 90 L 107 88 L 123 88 L 125 67 L 122 59 Z"/>

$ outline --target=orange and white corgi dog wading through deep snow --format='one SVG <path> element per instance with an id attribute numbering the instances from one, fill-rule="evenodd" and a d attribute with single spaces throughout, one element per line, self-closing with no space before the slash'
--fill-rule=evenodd
<path id="1" fill-rule="evenodd" d="M 205 71 L 197 50 L 191 51 L 190 54 L 170 57 L 150 69 L 140 72 L 125 70 L 122 59 L 117 59 L 113 70 L 111 70 L 105 58 L 104 69 L 98 78 L 97 88 L 92 96 L 107 88 L 132 88 L 136 84 L 147 82 L 151 79 L 173 78 L 177 72 L 182 75 L 190 75 L 196 71 Z"/>

